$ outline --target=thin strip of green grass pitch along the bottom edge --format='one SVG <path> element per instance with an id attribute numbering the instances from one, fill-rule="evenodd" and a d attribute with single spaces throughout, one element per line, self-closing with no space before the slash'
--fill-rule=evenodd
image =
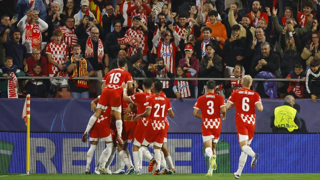
<path id="1" fill-rule="evenodd" d="M 19 175 L 19 174 L 6 174 L 7 176 L 0 174 L 0 180 L 2 179 L 30 179 L 30 180 L 49 180 L 49 179 L 66 179 L 66 180 L 105 180 L 105 179 L 116 179 L 116 180 L 144 180 L 144 179 L 172 179 L 172 180 L 188 180 L 188 179 L 234 179 L 233 174 L 231 173 L 221 173 L 213 174 L 212 177 L 205 177 L 205 174 L 174 174 L 174 175 L 151 175 L 151 174 L 142 174 L 142 175 L 96 175 L 96 174 L 29 174 L 29 175 Z M 269 174 L 245 174 L 241 175 L 240 179 L 245 180 L 262 180 L 262 179 L 274 179 L 274 180 L 292 180 L 292 179 L 320 179 L 320 173 L 269 173 Z"/>

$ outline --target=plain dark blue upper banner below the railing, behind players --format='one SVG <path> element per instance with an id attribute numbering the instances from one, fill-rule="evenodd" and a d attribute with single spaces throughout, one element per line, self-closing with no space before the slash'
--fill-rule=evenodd
<path id="1" fill-rule="evenodd" d="M 31 131 L 83 132 L 93 112 L 91 99 L 31 98 Z M 196 99 L 170 99 L 175 117 L 169 118 L 169 132 L 201 132 L 201 119 L 193 116 Z M 25 131 L 20 112 L 24 99 L 0 98 L 0 131 Z M 263 111 L 256 112 L 255 132 L 271 132 L 270 116 L 283 99 L 262 99 Z M 308 132 L 320 132 L 320 103 L 311 99 L 295 99 L 300 106 L 299 116 Z M 221 132 L 236 132 L 234 108 L 228 110 L 222 121 Z"/>

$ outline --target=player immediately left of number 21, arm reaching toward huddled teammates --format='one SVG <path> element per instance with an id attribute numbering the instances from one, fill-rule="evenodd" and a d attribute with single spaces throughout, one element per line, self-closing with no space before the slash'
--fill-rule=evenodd
<path id="1" fill-rule="evenodd" d="M 128 96 L 126 91 L 123 90 L 123 99 L 125 101 L 130 101 L 137 106 L 137 114 L 141 114 L 144 112 L 146 108 L 146 98 L 151 95 L 151 86 L 152 86 L 152 80 L 149 78 L 143 79 L 142 82 L 142 88 L 144 92 L 138 92 L 131 96 Z M 126 89 L 126 84 L 122 84 L 122 88 Z M 133 163 L 136 170 L 136 174 L 140 174 L 140 170 L 142 169 L 142 166 L 140 166 L 140 161 L 142 158 L 142 153 L 139 154 L 139 151 L 142 152 L 142 149 L 139 150 L 141 147 L 141 143 L 144 139 L 144 135 L 146 132 L 146 126 L 148 123 L 148 120 L 145 117 L 137 119 L 137 124 L 133 133 L 133 147 L 132 147 L 132 155 L 133 155 Z M 144 149 L 145 150 L 145 149 Z M 147 152 L 145 152 L 145 156 L 147 159 L 151 160 L 152 156 L 150 152 L 148 152 L 148 149 L 146 148 Z"/>

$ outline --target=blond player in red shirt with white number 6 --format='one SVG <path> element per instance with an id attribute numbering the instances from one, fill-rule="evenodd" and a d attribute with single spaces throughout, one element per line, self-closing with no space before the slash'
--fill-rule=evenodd
<path id="1" fill-rule="evenodd" d="M 234 172 L 235 178 L 240 178 L 247 155 L 252 157 L 252 168 L 256 166 L 259 157 L 259 154 L 253 152 L 249 145 L 252 141 L 255 127 L 254 106 L 259 112 L 262 111 L 263 106 L 260 95 L 257 92 L 250 90 L 251 84 L 251 76 L 244 75 L 242 78 L 242 88 L 232 92 L 226 103 L 226 109 L 232 108 L 233 105 L 235 106 L 235 125 L 241 147 L 238 169 Z"/>

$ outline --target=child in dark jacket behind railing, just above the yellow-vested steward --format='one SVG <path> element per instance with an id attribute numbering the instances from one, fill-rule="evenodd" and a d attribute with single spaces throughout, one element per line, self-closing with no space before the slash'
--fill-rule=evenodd
<path id="1" fill-rule="evenodd" d="M 305 71 L 303 71 L 302 64 L 295 64 L 294 70 L 292 70 L 285 78 L 302 78 L 303 80 L 305 80 Z M 290 81 L 287 92 L 288 94 L 293 95 L 295 98 L 302 98 L 304 93 L 304 86 L 304 81 Z"/>

